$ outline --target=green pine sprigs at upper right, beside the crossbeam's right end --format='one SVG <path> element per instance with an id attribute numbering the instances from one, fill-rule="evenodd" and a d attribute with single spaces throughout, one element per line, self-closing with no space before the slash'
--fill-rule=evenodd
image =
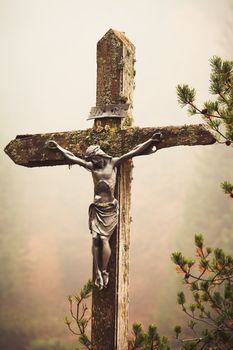
<path id="1" fill-rule="evenodd" d="M 209 92 L 214 100 L 206 101 L 202 107 L 198 107 L 195 102 L 196 90 L 183 84 L 177 86 L 178 103 L 182 108 L 188 107 L 189 115 L 201 115 L 219 143 L 233 146 L 233 61 L 213 56 L 210 66 Z M 231 184 L 222 184 L 223 191 L 233 198 L 232 187 L 227 185 Z"/>

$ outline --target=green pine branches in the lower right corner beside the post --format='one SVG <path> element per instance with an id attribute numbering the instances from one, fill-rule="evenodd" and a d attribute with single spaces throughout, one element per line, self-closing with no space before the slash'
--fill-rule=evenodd
<path id="1" fill-rule="evenodd" d="M 195 245 L 195 260 L 180 252 L 171 257 L 191 293 L 191 302 L 183 291 L 177 302 L 192 336 L 181 337 L 181 326 L 175 327 L 175 336 L 182 350 L 233 349 L 233 258 L 220 248 L 205 247 L 201 234 L 195 235 Z"/>

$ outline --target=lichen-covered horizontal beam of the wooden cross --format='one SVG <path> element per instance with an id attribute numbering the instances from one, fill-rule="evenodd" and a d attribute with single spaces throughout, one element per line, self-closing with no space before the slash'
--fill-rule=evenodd
<path id="1" fill-rule="evenodd" d="M 157 144 L 158 149 L 209 145 L 216 142 L 215 137 L 201 124 L 158 128 L 131 127 L 120 130 L 100 128 L 17 136 L 6 146 L 5 152 L 16 164 L 27 167 L 64 165 L 70 162 L 59 151 L 49 150 L 46 141 L 55 140 L 81 158 L 84 157 L 87 147 L 95 144 L 111 156 L 117 157 L 146 141 L 155 132 L 162 133 L 162 141 Z"/>

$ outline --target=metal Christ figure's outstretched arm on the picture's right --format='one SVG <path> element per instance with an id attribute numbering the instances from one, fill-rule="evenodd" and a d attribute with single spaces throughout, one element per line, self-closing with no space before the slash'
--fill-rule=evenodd
<path id="1" fill-rule="evenodd" d="M 133 157 L 156 152 L 157 151 L 156 143 L 160 142 L 161 138 L 162 138 L 162 134 L 160 132 L 153 134 L 149 140 L 137 145 L 130 152 L 123 154 L 123 156 L 119 158 L 115 158 L 116 160 L 115 160 L 114 166 L 119 166 L 126 160 L 131 159 Z"/>

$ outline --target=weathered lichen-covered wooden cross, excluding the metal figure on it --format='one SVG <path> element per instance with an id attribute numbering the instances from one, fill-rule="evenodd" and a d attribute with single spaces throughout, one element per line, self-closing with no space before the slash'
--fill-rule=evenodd
<path id="1" fill-rule="evenodd" d="M 69 164 L 59 152 L 44 146 L 51 139 L 81 158 L 92 144 L 100 145 L 112 156 L 120 156 L 155 132 L 163 135 L 157 149 L 215 143 L 214 136 L 203 125 L 133 127 L 134 63 L 134 45 L 124 33 L 110 29 L 97 44 L 97 108 L 92 109 L 93 128 L 19 135 L 6 146 L 5 152 L 16 164 L 40 167 Z M 93 290 L 92 343 L 97 350 L 128 348 L 131 179 L 132 162 L 127 161 L 120 166 L 117 175 L 119 222 L 111 237 L 110 282 L 102 291 Z"/>

